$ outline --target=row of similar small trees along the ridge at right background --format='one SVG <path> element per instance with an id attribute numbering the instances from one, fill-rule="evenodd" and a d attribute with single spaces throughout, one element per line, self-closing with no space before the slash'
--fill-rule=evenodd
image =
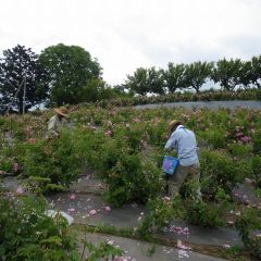
<path id="1" fill-rule="evenodd" d="M 170 62 L 166 70 L 139 67 L 133 75 L 127 75 L 123 87 L 141 96 L 173 94 L 181 89 L 192 89 L 198 94 L 210 80 L 225 90 L 237 87 L 261 88 L 261 55 L 253 57 L 250 61 L 224 58 L 217 62 Z"/>

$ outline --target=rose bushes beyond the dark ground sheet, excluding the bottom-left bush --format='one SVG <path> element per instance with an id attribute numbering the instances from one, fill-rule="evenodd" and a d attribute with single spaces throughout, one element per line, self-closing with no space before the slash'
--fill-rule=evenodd
<path id="1" fill-rule="evenodd" d="M 86 165 L 91 166 L 105 183 L 105 197 L 112 204 L 148 203 L 149 215 L 140 225 L 140 235 L 162 229 L 174 216 L 202 226 L 223 225 L 227 210 L 240 209 L 232 200 L 237 184 L 248 177 L 260 188 L 260 111 L 73 107 L 71 129 L 59 139 L 48 140 L 44 123 L 50 113 L 40 117 L 26 115 L 23 121 L 16 115 L 12 115 L 12 121 L 0 119 L 2 134 L 10 133 L 13 138 L 10 141 L 2 135 L 1 171 L 33 176 L 33 182 L 40 184 L 35 187 L 50 192 L 64 189 Z M 197 134 L 201 203 L 189 199 L 192 184 L 183 189 L 179 204 L 161 199 L 165 187 L 161 172 L 163 147 L 172 119 L 181 119 Z M 252 227 L 246 229 L 258 229 Z M 256 238 L 254 234 L 249 235 Z"/>

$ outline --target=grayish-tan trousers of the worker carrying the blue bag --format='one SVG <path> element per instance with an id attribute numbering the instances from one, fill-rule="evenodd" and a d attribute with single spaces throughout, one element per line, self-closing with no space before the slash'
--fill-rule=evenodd
<path id="1" fill-rule="evenodd" d="M 196 199 L 201 200 L 201 191 L 199 185 L 199 177 L 200 177 L 200 165 L 192 164 L 189 166 L 178 165 L 175 174 L 169 178 L 169 196 L 174 196 L 179 194 L 179 189 L 184 182 L 186 181 L 195 181 L 195 191 L 194 197 Z"/>

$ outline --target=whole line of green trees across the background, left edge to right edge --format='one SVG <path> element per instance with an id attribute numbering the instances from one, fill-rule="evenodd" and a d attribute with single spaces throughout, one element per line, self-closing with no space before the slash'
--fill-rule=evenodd
<path id="1" fill-rule="evenodd" d="M 0 59 L 0 112 L 26 112 L 35 105 L 95 102 L 119 96 L 173 94 L 181 89 L 199 92 L 209 82 L 234 90 L 237 86 L 261 88 L 261 55 L 217 62 L 169 63 L 167 69 L 137 69 L 122 85 L 102 78 L 97 59 L 78 46 L 59 44 L 36 54 L 17 45 Z"/>

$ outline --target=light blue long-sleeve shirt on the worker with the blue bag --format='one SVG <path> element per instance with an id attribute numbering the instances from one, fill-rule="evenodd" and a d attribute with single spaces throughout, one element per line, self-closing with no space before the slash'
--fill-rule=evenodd
<path id="1" fill-rule="evenodd" d="M 183 125 L 177 126 L 172 133 L 165 144 L 165 149 L 177 151 L 181 165 L 188 166 L 199 163 L 195 134 Z"/>

